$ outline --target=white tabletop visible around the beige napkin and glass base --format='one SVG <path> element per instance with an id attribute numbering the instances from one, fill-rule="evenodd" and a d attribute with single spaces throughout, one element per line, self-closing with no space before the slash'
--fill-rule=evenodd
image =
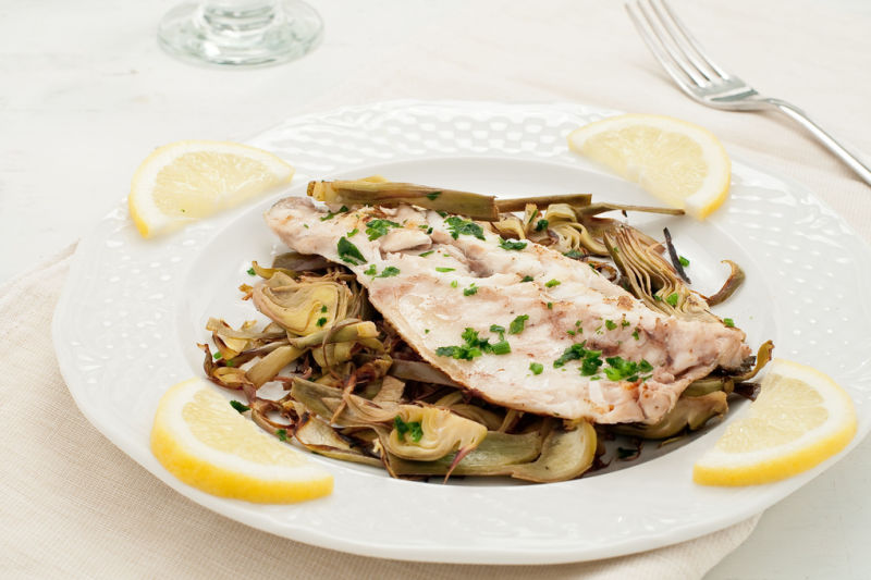
<path id="1" fill-rule="evenodd" d="M 126 196 L 134 169 L 154 147 L 244 139 L 318 109 L 321 100 L 342 102 L 341 81 L 377 71 L 373 63 L 420 30 L 450 30 L 464 5 L 314 0 L 327 36 L 312 54 L 271 69 L 225 71 L 176 62 L 158 49 L 156 23 L 174 3 L 0 3 L 0 283 L 87 232 Z M 841 4 L 846 14 L 869 13 L 859 0 Z M 540 95 L 530 89 L 517 97 Z M 675 102 L 680 98 L 674 95 Z M 867 441 L 771 508 L 708 578 L 871 577 L 870 489 Z"/>

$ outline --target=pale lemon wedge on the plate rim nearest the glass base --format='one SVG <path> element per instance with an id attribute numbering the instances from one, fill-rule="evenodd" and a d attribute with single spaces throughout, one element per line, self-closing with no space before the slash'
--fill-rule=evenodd
<path id="1" fill-rule="evenodd" d="M 290 183 L 293 172 L 281 158 L 247 145 L 173 143 L 136 170 L 130 214 L 139 233 L 151 237 Z"/>

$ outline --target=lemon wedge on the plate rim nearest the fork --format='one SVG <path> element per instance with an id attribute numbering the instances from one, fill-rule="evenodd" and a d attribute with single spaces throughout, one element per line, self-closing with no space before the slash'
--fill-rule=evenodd
<path id="1" fill-rule="evenodd" d="M 699 220 L 728 197 L 726 150 L 711 132 L 686 121 L 610 116 L 572 132 L 568 147 Z"/>

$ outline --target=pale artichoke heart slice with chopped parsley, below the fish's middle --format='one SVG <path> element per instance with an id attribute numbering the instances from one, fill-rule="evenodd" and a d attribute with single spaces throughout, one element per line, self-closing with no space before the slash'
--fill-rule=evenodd
<path id="1" fill-rule="evenodd" d="M 420 431 L 400 433 L 400 424 L 416 423 Z M 385 447 L 403 459 L 433 461 L 457 449 L 474 449 L 487 436 L 487 428 L 446 409 L 401 405 Z"/>

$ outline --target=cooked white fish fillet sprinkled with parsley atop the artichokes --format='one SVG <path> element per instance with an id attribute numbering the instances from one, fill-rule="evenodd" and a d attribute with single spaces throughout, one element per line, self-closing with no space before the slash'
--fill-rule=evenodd
<path id="1" fill-rule="evenodd" d="M 715 367 L 737 368 L 749 354 L 740 330 L 654 312 L 586 264 L 533 243 L 505 249 L 495 234 L 474 226 L 462 233 L 438 212 L 407 206 L 330 215 L 308 198 L 287 198 L 266 221 L 291 249 L 344 261 L 424 359 L 492 403 L 599 423 L 653 423 L 694 380 Z M 378 232 L 376 219 L 395 225 Z M 523 316 L 522 332 L 504 333 L 511 353 L 445 356 L 443 347 L 468 344 L 466 329 L 493 344 L 500 336 L 491 325 L 508 331 Z M 578 360 L 554 365 L 576 344 L 602 351 L 599 372 L 582 375 Z M 609 357 L 645 360 L 652 370 L 609 380 Z"/>

